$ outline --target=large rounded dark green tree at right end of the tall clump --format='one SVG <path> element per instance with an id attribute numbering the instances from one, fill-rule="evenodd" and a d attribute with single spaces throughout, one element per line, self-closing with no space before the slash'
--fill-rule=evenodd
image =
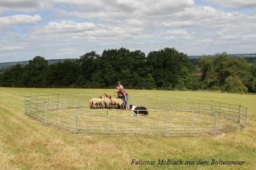
<path id="1" fill-rule="evenodd" d="M 156 85 L 169 89 L 176 86 L 186 87 L 194 69 L 187 55 L 174 48 L 150 52 L 147 57 L 147 65 Z"/>

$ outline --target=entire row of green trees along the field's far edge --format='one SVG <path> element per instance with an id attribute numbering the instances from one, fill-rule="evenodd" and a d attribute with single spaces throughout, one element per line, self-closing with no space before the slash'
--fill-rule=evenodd
<path id="1" fill-rule="evenodd" d="M 37 56 L 0 74 L 0 86 L 113 88 L 117 81 L 134 89 L 256 91 L 256 64 L 224 53 L 200 59 L 201 76 L 186 54 L 174 48 L 151 51 L 125 48 L 88 52 L 75 60 L 49 64 Z"/>

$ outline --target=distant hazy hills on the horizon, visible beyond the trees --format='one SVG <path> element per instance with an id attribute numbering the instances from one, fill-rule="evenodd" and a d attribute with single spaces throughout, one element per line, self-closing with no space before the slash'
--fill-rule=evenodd
<path id="1" fill-rule="evenodd" d="M 210 55 L 211 57 L 213 57 L 214 55 Z M 246 60 L 248 60 L 248 62 L 253 62 L 256 59 L 256 53 L 249 53 L 249 54 L 229 54 L 230 57 L 243 57 Z M 188 56 L 191 63 L 198 65 L 199 64 L 199 57 L 201 56 Z M 67 58 L 67 59 L 51 59 L 48 60 L 48 62 L 50 64 L 53 63 L 57 63 L 57 62 L 61 62 L 64 60 L 75 60 L 75 58 Z M 25 66 L 26 64 L 28 64 L 29 61 L 21 61 L 21 62 L 9 62 L 9 63 L 0 63 L 0 72 L 3 72 L 9 68 L 14 67 L 16 64 L 21 64 L 22 66 Z"/>

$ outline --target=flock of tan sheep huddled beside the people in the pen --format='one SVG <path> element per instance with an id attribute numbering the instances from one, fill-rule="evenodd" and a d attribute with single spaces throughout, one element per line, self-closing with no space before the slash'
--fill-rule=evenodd
<path id="1" fill-rule="evenodd" d="M 120 109 L 124 109 L 124 101 L 122 99 L 116 99 L 107 94 L 104 94 L 99 98 L 90 99 L 90 108 L 93 109 L 94 105 L 97 107 L 99 105 L 100 108 L 103 108 L 103 105 L 105 105 L 105 108 L 109 109 L 114 108 L 117 105 Z"/>

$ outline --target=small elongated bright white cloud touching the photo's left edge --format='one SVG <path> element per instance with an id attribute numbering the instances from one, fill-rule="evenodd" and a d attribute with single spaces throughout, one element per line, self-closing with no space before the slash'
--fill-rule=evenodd
<path id="1" fill-rule="evenodd" d="M 41 21 L 40 15 L 27 15 L 27 14 L 20 14 L 20 15 L 10 15 L 5 17 L 0 17 L 0 27 L 7 27 L 7 26 L 21 26 L 21 25 L 31 25 L 36 24 Z"/>

